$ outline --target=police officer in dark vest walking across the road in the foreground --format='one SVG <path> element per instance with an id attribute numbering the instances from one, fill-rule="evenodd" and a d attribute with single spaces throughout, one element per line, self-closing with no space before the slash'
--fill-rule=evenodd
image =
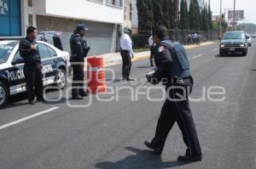
<path id="1" fill-rule="evenodd" d="M 178 161 L 201 161 L 201 147 L 195 130 L 195 123 L 189 108 L 189 93 L 193 79 L 190 75 L 189 60 L 183 46 L 172 42 L 167 37 L 164 26 L 156 27 L 153 32 L 154 62 L 156 70 L 147 75 L 148 82 L 166 86 L 167 99 L 162 107 L 157 123 L 155 136 L 151 142 L 144 144 L 154 153 L 160 155 L 164 148 L 168 133 L 177 122 L 183 134 L 183 141 L 188 149 L 185 155 L 179 155 Z"/>

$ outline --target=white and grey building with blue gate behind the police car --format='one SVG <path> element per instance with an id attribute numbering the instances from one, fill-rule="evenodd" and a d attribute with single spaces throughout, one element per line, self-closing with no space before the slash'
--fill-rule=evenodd
<path id="1" fill-rule="evenodd" d="M 90 54 L 115 52 L 124 22 L 123 0 L 0 0 L 0 37 L 26 35 L 26 27 L 38 31 L 61 31 L 63 48 L 78 23 L 90 31 Z"/>

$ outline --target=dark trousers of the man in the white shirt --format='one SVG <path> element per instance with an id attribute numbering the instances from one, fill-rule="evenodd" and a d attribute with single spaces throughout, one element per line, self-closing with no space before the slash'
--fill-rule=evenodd
<path id="1" fill-rule="evenodd" d="M 121 50 L 121 56 L 122 56 L 122 60 L 123 60 L 123 68 L 122 68 L 123 78 L 130 77 L 130 71 L 131 71 L 130 52 L 127 50 Z"/>

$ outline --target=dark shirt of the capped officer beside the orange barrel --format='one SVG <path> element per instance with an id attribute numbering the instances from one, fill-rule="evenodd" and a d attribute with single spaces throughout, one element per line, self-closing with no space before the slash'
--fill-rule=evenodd
<path id="1" fill-rule="evenodd" d="M 74 33 L 70 37 L 70 49 L 71 49 L 71 61 L 84 62 L 84 58 L 87 56 L 88 51 L 86 41 L 79 34 Z"/>

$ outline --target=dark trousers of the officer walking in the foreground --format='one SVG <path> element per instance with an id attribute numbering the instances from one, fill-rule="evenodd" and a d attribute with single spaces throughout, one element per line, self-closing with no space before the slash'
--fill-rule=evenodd
<path id="1" fill-rule="evenodd" d="M 187 92 L 184 93 L 182 88 Z M 177 122 L 177 125 L 183 134 L 183 141 L 188 147 L 186 155 L 201 155 L 201 147 L 197 138 L 195 123 L 189 108 L 188 95 L 191 90 L 191 80 L 184 80 L 184 85 L 181 86 L 176 85 L 173 87 L 172 85 L 168 85 L 166 87 L 169 98 L 166 99 L 166 102 L 162 107 L 155 137 L 151 142 L 155 147 L 160 149 L 164 148 L 168 133 L 171 131 L 174 123 Z M 182 96 L 184 95 L 185 97 L 181 100 L 180 96 L 177 96 L 176 93 L 179 93 Z"/>

